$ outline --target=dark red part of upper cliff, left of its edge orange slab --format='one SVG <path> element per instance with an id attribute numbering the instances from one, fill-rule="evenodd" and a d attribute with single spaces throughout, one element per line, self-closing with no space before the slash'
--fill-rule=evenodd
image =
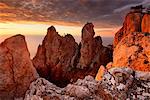
<path id="1" fill-rule="evenodd" d="M 127 14 L 123 27 L 115 34 L 114 47 L 130 32 L 141 32 L 142 17 L 142 12 L 130 12 Z"/>

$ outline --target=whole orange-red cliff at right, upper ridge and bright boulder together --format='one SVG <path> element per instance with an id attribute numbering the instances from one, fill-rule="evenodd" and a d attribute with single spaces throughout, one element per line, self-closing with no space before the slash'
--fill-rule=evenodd
<path id="1" fill-rule="evenodd" d="M 143 9 L 142 6 L 135 7 Z M 128 66 L 150 71 L 150 14 L 130 12 L 123 27 L 115 34 L 113 66 Z"/>

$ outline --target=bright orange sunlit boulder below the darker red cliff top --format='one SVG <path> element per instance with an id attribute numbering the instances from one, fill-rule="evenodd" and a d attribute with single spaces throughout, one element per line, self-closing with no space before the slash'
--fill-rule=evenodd
<path id="1" fill-rule="evenodd" d="M 113 66 L 150 71 L 150 33 L 129 33 L 114 49 Z"/>

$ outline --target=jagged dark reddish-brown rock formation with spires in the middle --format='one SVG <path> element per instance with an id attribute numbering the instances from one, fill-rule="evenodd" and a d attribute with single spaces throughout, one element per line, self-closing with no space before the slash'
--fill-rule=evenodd
<path id="1" fill-rule="evenodd" d="M 71 35 L 62 37 L 50 27 L 33 58 L 39 75 L 58 86 L 66 86 L 86 75 L 95 77 L 99 66 L 112 60 L 112 51 L 102 45 L 100 36 L 93 37 L 93 28 L 92 23 L 83 27 L 82 41 L 78 45 Z"/>

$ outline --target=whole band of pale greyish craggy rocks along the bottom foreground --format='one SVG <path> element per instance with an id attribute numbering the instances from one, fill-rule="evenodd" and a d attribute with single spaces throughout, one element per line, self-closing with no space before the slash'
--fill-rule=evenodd
<path id="1" fill-rule="evenodd" d="M 105 71 L 101 81 L 86 76 L 64 88 L 39 78 L 30 85 L 25 100 L 148 100 L 149 80 L 149 72 L 138 72 L 126 67 Z"/>

